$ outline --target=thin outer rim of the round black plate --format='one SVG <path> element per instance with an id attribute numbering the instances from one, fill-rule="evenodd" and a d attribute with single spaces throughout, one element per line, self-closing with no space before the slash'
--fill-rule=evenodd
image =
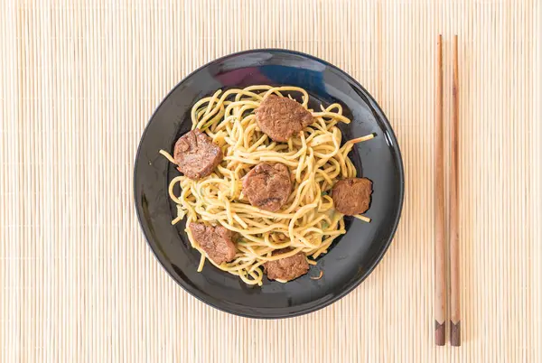
<path id="1" fill-rule="evenodd" d="M 139 160 L 139 156 L 140 156 L 140 152 L 141 152 L 141 147 L 142 147 L 142 144 L 143 144 L 143 140 L 145 139 L 145 134 L 149 128 L 149 125 L 151 124 L 151 121 L 154 119 L 154 116 L 156 114 L 156 112 L 158 111 L 158 109 L 160 108 L 160 106 L 162 105 L 162 103 L 164 102 L 165 99 L 169 98 L 170 95 L 175 91 L 176 88 L 179 88 L 182 83 L 184 83 L 185 81 L 189 80 L 192 78 L 192 76 L 194 74 L 196 74 L 197 72 L 199 72 L 200 70 L 203 70 L 207 67 L 210 67 L 211 65 L 213 65 L 214 63 L 217 63 L 217 62 L 220 62 L 220 61 L 223 61 L 229 57 L 235 57 L 235 56 L 239 56 L 239 55 L 244 55 L 244 54 L 249 54 L 249 53 L 255 53 L 255 52 L 276 52 L 276 53 L 289 53 L 289 54 L 294 54 L 294 55 L 299 55 L 299 56 L 302 56 L 302 57 L 305 57 L 305 58 L 308 58 L 310 60 L 313 60 L 313 61 L 318 61 L 318 62 L 321 62 L 323 65 L 325 65 L 326 67 L 330 67 L 332 68 L 333 70 L 336 70 L 338 71 L 339 73 L 341 73 L 341 75 L 345 78 L 345 79 L 349 79 L 354 85 L 356 85 L 357 87 L 359 87 L 360 89 L 362 89 L 366 94 L 367 96 L 369 97 L 369 101 L 371 103 L 371 107 L 374 108 L 374 110 L 377 112 L 378 116 L 380 117 L 381 121 L 388 127 L 388 135 L 391 139 L 391 148 L 394 150 L 395 153 L 397 153 L 397 161 L 399 162 L 397 167 L 399 169 L 399 205 L 398 205 L 398 212 L 397 212 L 397 217 L 396 219 L 393 221 L 393 227 L 391 228 L 391 233 L 389 234 L 389 237 L 388 237 L 388 240 L 385 242 L 385 244 L 383 244 L 383 247 L 381 248 L 381 251 L 378 255 L 378 258 L 376 258 L 374 260 L 374 263 L 372 265 L 369 266 L 369 268 L 367 269 L 367 273 L 363 276 L 361 276 L 359 279 L 357 279 L 356 281 L 352 282 L 350 285 L 347 285 L 342 291 L 341 293 L 337 293 L 335 296 L 332 297 L 332 299 L 326 301 L 326 302 L 322 302 L 318 305 L 315 305 L 315 306 L 312 306 L 312 307 L 309 307 L 309 308 L 304 308 L 304 309 L 300 309 L 298 310 L 297 312 L 291 312 L 291 313 L 276 313 L 276 314 L 267 314 L 267 315 L 262 315 L 262 314 L 258 314 L 258 313 L 250 313 L 250 312 L 231 312 L 225 308 L 223 308 L 222 306 L 214 303 L 214 302 L 209 302 L 207 300 L 205 300 L 199 293 L 198 290 L 196 289 L 193 289 L 192 286 L 190 284 L 186 284 L 183 280 L 181 279 L 177 279 L 175 277 L 175 275 L 173 275 L 173 271 L 170 270 L 169 267 L 167 267 L 166 265 L 164 265 L 164 263 L 162 262 L 163 261 L 163 257 L 160 256 L 161 253 L 160 251 L 158 251 L 156 248 L 153 247 L 153 245 L 149 242 L 149 238 L 148 236 L 146 235 L 145 233 L 145 228 L 143 228 L 143 222 L 142 222 L 142 217 L 139 213 L 139 209 L 137 208 L 137 195 L 136 195 L 136 183 L 135 183 L 135 178 L 136 178 L 136 175 L 137 175 L 137 161 Z M 190 293 L 193 297 L 195 297 L 196 299 L 198 299 L 199 301 L 201 302 L 204 302 L 206 303 L 207 305 L 210 305 L 212 306 L 213 308 L 215 309 L 218 309 L 220 310 L 221 312 L 228 312 L 230 314 L 233 314 L 233 315 L 237 315 L 237 316 L 241 316 L 241 317 L 245 317 L 245 318 L 253 318 L 253 319 L 284 319 L 284 318 L 294 318 L 296 316 L 300 316 L 300 315 L 304 315 L 304 314 L 308 314 L 308 313 L 311 313 L 311 312 L 316 312 L 316 311 L 319 311 L 321 309 L 323 309 L 324 307 L 326 306 L 329 306 L 331 305 L 332 303 L 334 302 L 338 302 L 339 300 L 341 300 L 344 296 L 346 296 L 347 294 L 349 294 L 351 291 L 353 291 L 356 287 L 358 287 L 367 277 L 369 277 L 369 275 L 374 271 L 374 269 L 376 268 L 376 266 L 380 263 L 380 261 L 382 260 L 382 258 L 384 257 L 384 255 L 386 254 L 386 252 L 388 251 L 388 248 L 389 246 L 391 245 L 391 242 L 393 240 L 393 237 L 395 236 L 395 233 L 397 231 L 397 227 L 398 227 L 398 224 L 399 224 L 399 220 L 401 218 L 401 213 L 403 211 L 403 202 L 404 202 L 404 197 L 405 197 L 405 171 L 404 171 L 404 166 L 403 166 L 403 157 L 401 155 L 401 151 L 400 151 L 400 148 L 399 148 L 399 144 L 397 143 L 397 137 L 395 135 L 395 132 L 393 130 L 393 128 L 391 127 L 391 125 L 389 124 L 389 121 L 388 121 L 388 117 L 386 117 L 386 115 L 384 114 L 384 111 L 382 111 L 382 109 L 378 106 L 378 103 L 377 101 L 372 97 L 372 95 L 370 95 L 370 93 L 367 91 L 367 89 L 363 88 L 363 86 L 360 85 L 360 82 L 358 82 L 356 79 L 353 79 L 350 74 L 348 74 L 347 72 L 345 72 L 344 70 L 341 70 L 339 67 L 336 67 L 334 66 L 332 63 L 328 62 L 328 61 L 323 61 L 322 59 L 320 58 L 317 58 L 317 57 L 314 57 L 313 55 L 310 55 L 310 54 L 306 54 L 304 52 L 301 52 L 301 51 L 290 51 L 290 50 L 286 50 L 286 49 L 281 49 L 281 48 L 260 48 L 260 49 L 254 49 L 254 50 L 249 50 L 249 51 L 238 51 L 238 52 L 234 52 L 234 53 L 230 53 L 230 54 L 227 54 L 227 55 L 224 55 L 220 58 L 217 58 L 213 61 L 210 61 L 204 65 L 202 65 L 200 68 L 198 68 L 197 70 L 193 70 L 189 75 L 187 75 L 186 77 L 184 77 L 179 83 L 177 83 L 175 85 L 175 87 L 173 87 L 169 92 L 168 94 L 162 98 L 162 100 L 160 101 L 160 103 L 158 104 L 158 106 L 154 109 L 154 113 L 153 115 L 151 116 L 151 118 L 149 119 L 149 121 L 147 122 L 146 126 L 145 126 L 145 130 L 143 132 L 143 134 L 141 135 L 141 139 L 139 141 L 139 145 L 137 146 L 137 153 L 135 154 L 135 163 L 134 163 L 134 203 L 135 203 L 135 214 L 137 215 L 137 219 L 139 221 L 139 228 L 141 228 L 142 232 L 143 232 L 143 235 L 145 236 L 145 240 L 147 242 L 147 245 L 148 247 L 151 248 L 151 250 L 153 251 L 153 254 L 154 256 L 156 257 L 156 259 L 158 259 L 158 262 L 160 262 L 160 265 L 162 265 L 162 267 L 164 268 L 164 270 L 168 273 L 168 275 L 170 275 L 170 277 L 173 279 L 174 282 L 176 282 L 177 284 L 179 284 L 186 292 Z"/>

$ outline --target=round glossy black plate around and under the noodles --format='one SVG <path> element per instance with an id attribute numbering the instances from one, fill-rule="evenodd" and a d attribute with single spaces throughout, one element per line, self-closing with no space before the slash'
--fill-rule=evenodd
<path id="1" fill-rule="evenodd" d="M 350 158 L 358 174 L 373 181 L 371 223 L 347 219 L 348 232 L 307 275 L 281 284 L 264 278 L 248 286 L 238 276 L 206 263 L 196 272 L 200 254 L 190 247 L 184 223 L 172 226 L 175 207 L 168 182 L 179 172 L 158 154 L 191 127 L 190 111 L 200 98 L 219 88 L 255 84 L 292 85 L 307 89 L 313 102 L 339 102 L 353 120 L 343 127 L 345 139 L 376 133 L 359 144 Z M 361 167 L 362 163 L 362 167 Z M 244 51 L 194 71 L 182 79 L 154 112 L 135 158 L 135 208 L 145 237 L 166 271 L 186 291 L 224 312 L 253 318 L 284 318 L 313 312 L 350 293 L 375 268 L 388 249 L 403 206 L 403 163 L 396 137 L 369 93 L 342 70 L 310 55 L 284 50 Z M 312 280 L 310 276 L 323 276 Z"/>

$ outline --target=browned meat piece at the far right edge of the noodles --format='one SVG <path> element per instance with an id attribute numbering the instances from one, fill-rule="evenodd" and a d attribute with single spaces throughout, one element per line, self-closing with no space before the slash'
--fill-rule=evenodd
<path id="1" fill-rule="evenodd" d="M 353 216 L 369 209 L 372 181 L 367 178 L 350 178 L 337 181 L 333 186 L 332 199 L 335 209 Z"/>

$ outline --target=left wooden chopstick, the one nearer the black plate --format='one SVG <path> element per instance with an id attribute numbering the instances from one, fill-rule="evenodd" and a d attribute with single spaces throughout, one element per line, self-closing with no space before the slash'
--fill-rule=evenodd
<path id="1" fill-rule="evenodd" d="M 446 275 L 444 240 L 443 36 L 437 41 L 436 179 L 435 179 L 435 344 L 446 343 Z"/>

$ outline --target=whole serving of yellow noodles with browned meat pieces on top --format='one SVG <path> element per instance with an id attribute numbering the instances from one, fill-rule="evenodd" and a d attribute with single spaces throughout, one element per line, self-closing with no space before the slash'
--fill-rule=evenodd
<path id="1" fill-rule="evenodd" d="M 173 156 L 160 151 L 182 172 L 172 224 L 186 220 L 198 271 L 209 261 L 246 284 L 292 281 L 346 233 L 345 214 L 369 222 L 372 183 L 349 153 L 374 135 L 344 141 L 341 105 L 308 103 L 303 88 L 218 90 L 193 105 Z"/>

